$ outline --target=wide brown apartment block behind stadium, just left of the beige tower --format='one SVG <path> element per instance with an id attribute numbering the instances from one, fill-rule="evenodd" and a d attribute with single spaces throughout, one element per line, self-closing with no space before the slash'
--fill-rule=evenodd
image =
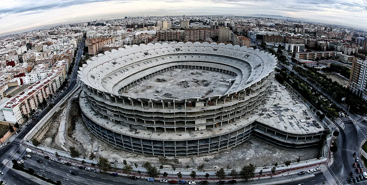
<path id="1" fill-rule="evenodd" d="M 204 41 L 206 38 L 218 36 L 218 30 L 212 29 L 186 29 L 183 32 L 183 40 L 185 41 Z"/>

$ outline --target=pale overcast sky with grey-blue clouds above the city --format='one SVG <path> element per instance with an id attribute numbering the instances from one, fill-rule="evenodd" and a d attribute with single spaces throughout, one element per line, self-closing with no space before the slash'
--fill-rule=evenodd
<path id="1" fill-rule="evenodd" d="M 0 35 L 124 16 L 282 15 L 367 28 L 366 0 L 0 0 Z"/>

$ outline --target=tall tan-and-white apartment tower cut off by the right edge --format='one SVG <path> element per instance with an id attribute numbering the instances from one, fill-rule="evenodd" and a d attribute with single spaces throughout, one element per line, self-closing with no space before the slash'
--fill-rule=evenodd
<path id="1" fill-rule="evenodd" d="M 367 60 L 366 56 L 355 55 L 353 57 L 352 69 L 350 69 L 350 78 L 348 87 L 353 93 L 356 93 L 367 100 Z"/>

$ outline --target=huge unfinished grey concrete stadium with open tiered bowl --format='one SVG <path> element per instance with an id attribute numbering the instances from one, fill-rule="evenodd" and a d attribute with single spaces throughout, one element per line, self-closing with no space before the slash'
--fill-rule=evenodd
<path id="1" fill-rule="evenodd" d="M 272 90 L 276 61 L 258 49 L 208 42 L 98 54 L 78 71 L 82 118 L 106 143 L 151 156 L 207 155 L 252 135 L 284 147 L 316 147 L 324 128 L 302 132 L 297 123 L 289 130 L 251 112 Z"/>

